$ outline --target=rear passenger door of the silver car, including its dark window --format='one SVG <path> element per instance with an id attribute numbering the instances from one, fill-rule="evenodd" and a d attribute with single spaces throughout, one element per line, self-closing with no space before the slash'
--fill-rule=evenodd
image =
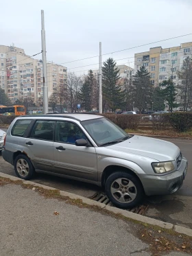
<path id="1" fill-rule="evenodd" d="M 25 139 L 27 154 L 32 159 L 36 170 L 52 172 L 53 135 L 56 121 L 36 120 L 31 135 Z"/>

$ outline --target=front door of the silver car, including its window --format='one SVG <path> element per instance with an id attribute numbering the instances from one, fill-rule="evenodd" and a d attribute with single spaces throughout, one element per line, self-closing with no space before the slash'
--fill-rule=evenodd
<path id="1" fill-rule="evenodd" d="M 55 172 L 97 181 L 95 148 L 75 146 L 77 139 L 87 139 L 80 126 L 71 121 L 57 121 L 56 141 L 53 143 Z"/>

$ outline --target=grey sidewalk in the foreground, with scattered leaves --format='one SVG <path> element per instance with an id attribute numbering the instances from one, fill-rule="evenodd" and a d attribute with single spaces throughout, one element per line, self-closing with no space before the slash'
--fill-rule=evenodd
<path id="1" fill-rule="evenodd" d="M 20 185 L 0 185 L 0 216 L 1 256 L 157 255 L 151 241 L 142 241 L 148 228 L 141 224 L 47 199 Z M 152 234 L 148 238 L 156 241 Z M 191 255 L 181 251 L 163 255 Z"/>

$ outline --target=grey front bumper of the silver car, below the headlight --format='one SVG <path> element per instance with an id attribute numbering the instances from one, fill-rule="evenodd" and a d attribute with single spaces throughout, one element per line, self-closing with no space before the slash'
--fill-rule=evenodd
<path id="1" fill-rule="evenodd" d="M 147 175 L 140 174 L 139 178 L 143 184 L 145 194 L 166 195 L 176 192 L 180 187 L 187 174 L 187 159 L 183 158 L 178 170 L 164 175 Z"/>

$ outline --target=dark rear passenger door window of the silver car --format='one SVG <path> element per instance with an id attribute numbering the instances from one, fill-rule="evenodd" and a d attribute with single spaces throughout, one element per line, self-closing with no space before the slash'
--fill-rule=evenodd
<path id="1" fill-rule="evenodd" d="M 32 130 L 31 138 L 53 141 L 53 130 L 55 124 L 56 121 L 36 121 L 36 124 Z"/>

